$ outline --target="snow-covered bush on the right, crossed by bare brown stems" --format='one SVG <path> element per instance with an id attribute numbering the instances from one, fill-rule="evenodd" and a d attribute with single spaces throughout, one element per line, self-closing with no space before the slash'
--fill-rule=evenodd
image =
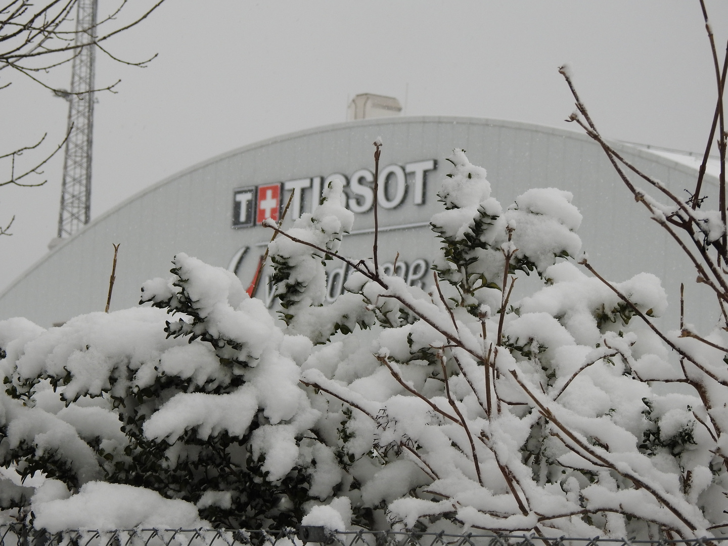
<path id="1" fill-rule="evenodd" d="M 355 514 L 409 529 L 708 532 L 726 507 L 716 431 L 699 396 L 652 388 L 679 368 L 633 318 L 665 310 L 659 280 L 612 284 L 623 301 L 569 259 L 581 246 L 571 194 L 531 190 L 502 210 L 482 168 L 462 151 L 451 162 L 432 218 L 435 288 L 350 262 L 347 288 L 378 327 L 303 366 L 317 407 L 341 419 Z M 544 285 L 510 301 L 515 272 Z"/>

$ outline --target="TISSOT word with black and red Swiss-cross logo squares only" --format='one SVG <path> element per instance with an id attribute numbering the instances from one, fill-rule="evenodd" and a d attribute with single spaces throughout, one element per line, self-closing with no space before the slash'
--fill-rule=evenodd
<path id="1" fill-rule="evenodd" d="M 425 179 L 427 173 L 437 166 L 435 159 L 426 159 L 405 163 L 404 165 L 387 165 L 379 173 L 379 191 L 377 202 L 382 209 L 394 209 L 410 202 L 412 205 L 424 205 Z M 302 212 L 311 212 L 321 199 L 321 191 L 333 180 L 340 180 L 347 188 L 344 205 L 357 214 L 368 213 L 374 205 L 373 181 L 371 170 L 360 169 L 348 178 L 341 173 L 333 173 L 327 177 L 312 176 L 296 178 L 284 182 L 248 186 L 233 191 L 232 226 L 244 228 L 258 226 L 264 220 L 272 218 L 278 221 L 282 206 L 282 195 L 286 191 L 294 191 L 289 217 L 298 218 Z M 306 209 L 306 210 L 304 210 Z"/>

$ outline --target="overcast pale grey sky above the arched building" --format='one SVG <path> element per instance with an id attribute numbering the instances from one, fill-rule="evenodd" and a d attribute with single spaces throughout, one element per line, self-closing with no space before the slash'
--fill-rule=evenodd
<path id="1" fill-rule="evenodd" d="M 102 15 L 115 5 L 99 4 Z M 722 59 L 728 2 L 707 6 Z M 689 151 L 704 149 L 716 100 L 697 0 L 167 0 L 110 47 L 159 56 L 143 69 L 98 56 L 97 84 L 122 83 L 95 106 L 94 218 L 194 163 L 343 122 L 361 92 L 395 96 L 408 115 L 576 129 L 563 122 L 573 101 L 556 70 L 569 62 L 602 134 Z M 47 77 L 69 87 L 70 67 Z M 49 151 L 63 139 L 64 100 L 18 78 L 0 93 L 2 153 L 44 132 Z M 55 237 L 62 167 L 59 154 L 45 186 L 0 188 L 0 222 L 16 216 L 0 237 L 0 290 Z"/>

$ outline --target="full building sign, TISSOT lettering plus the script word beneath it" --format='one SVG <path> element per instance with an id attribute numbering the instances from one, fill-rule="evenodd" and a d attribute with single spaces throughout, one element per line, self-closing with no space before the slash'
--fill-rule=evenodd
<path id="1" fill-rule="evenodd" d="M 429 215 L 420 207 L 426 205 L 427 175 L 435 170 L 435 167 L 437 167 L 435 159 L 425 159 L 402 164 L 393 163 L 379 170 L 379 189 L 376 196 L 380 211 L 379 229 L 387 233 L 379 242 L 382 268 L 387 274 L 397 274 L 403 277 L 408 285 L 424 285 L 427 282 L 427 273 L 430 271 L 431 258 L 428 256 L 427 250 L 416 244 L 416 237 L 411 229 L 422 229 L 429 224 Z M 293 191 L 293 198 L 290 200 L 290 209 L 286 214 L 286 219 L 287 221 L 295 220 L 301 216 L 301 213 L 312 212 L 314 206 L 318 205 L 321 200 L 323 189 L 333 180 L 341 181 L 344 186 L 342 202 L 345 207 L 357 215 L 363 215 L 373 210 L 374 174 L 369 169 L 359 169 L 350 175 L 333 173 L 328 176 L 295 178 L 234 189 L 232 227 L 260 226 L 268 218 L 280 221 L 282 207 L 287 202 L 291 191 Z M 394 212 L 395 209 L 397 209 L 396 213 L 389 215 L 388 220 L 383 221 L 382 213 L 386 213 L 387 210 Z M 426 218 L 423 218 L 422 213 Z M 397 249 L 403 252 L 400 256 L 394 248 L 388 249 L 387 240 L 394 240 L 392 235 L 395 232 L 403 233 L 402 230 L 406 229 L 410 229 L 407 232 L 406 248 Z M 368 237 L 365 234 L 371 234 L 371 232 L 373 232 L 373 227 L 365 227 L 365 229 L 352 232 L 352 236 L 359 234 Z M 429 230 L 427 232 L 429 234 Z M 228 269 L 238 275 L 246 285 L 250 282 L 249 293 L 252 294 L 257 290 L 255 294 L 271 307 L 274 304 L 275 287 L 270 282 L 272 272 L 268 266 L 264 266 L 262 260 L 269 242 L 269 235 L 261 236 L 256 233 L 253 237 L 245 237 L 245 239 L 246 245 L 234 253 Z M 357 245 L 363 245 L 359 250 L 370 248 L 370 244 L 365 239 L 350 242 L 354 243 L 355 248 Z M 349 246 L 349 250 L 356 252 L 355 248 Z M 387 252 L 387 250 L 392 251 Z M 364 250 L 364 252 L 366 251 Z M 395 255 L 397 255 L 397 259 L 395 259 Z M 344 292 L 344 282 L 351 272 L 351 268 L 346 264 L 342 265 L 333 261 L 328 264 L 325 301 L 334 301 Z M 258 277 L 258 274 L 261 275 L 261 282 L 259 284 L 251 282 Z"/>

